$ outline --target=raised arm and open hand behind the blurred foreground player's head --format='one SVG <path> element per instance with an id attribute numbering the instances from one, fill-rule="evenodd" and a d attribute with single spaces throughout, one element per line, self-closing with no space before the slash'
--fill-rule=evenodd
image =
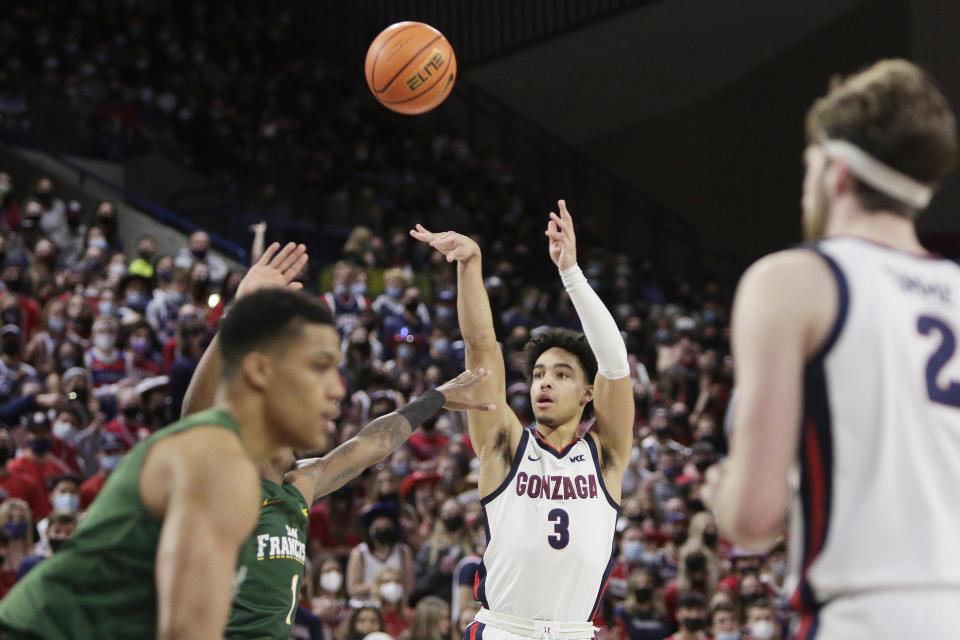
<path id="1" fill-rule="evenodd" d="M 293 291 L 303 287 L 299 282 L 293 282 L 303 265 L 307 263 L 307 247 L 293 242 L 287 243 L 283 249 L 274 242 L 263 252 L 260 259 L 250 267 L 247 275 L 237 287 L 237 299 L 250 295 L 258 289 L 268 287 L 287 287 Z M 187 392 L 183 397 L 181 416 L 187 417 L 191 413 L 203 411 L 213 406 L 213 398 L 217 391 L 217 376 L 220 375 L 220 347 L 219 338 L 213 337 L 207 350 L 200 358 Z"/>

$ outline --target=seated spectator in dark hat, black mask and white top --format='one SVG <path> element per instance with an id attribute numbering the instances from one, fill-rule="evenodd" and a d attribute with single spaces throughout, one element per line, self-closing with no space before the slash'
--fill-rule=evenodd
<path id="1" fill-rule="evenodd" d="M 375 597 L 373 582 L 385 568 L 400 572 L 404 591 L 409 593 L 413 588 L 413 552 L 400 541 L 396 506 L 389 502 L 374 503 L 360 514 L 360 520 L 367 529 L 367 541 L 350 552 L 347 593 L 361 600 Z"/>

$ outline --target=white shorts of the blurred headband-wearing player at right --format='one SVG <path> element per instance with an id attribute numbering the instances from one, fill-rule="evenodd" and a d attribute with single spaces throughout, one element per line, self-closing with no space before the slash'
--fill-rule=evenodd
<path id="1" fill-rule="evenodd" d="M 797 640 L 960 637 L 960 589 L 873 591 L 831 600 L 805 616 Z"/>

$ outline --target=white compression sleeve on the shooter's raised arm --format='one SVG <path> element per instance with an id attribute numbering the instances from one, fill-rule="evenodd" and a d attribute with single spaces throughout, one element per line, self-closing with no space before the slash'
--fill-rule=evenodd
<path id="1" fill-rule="evenodd" d="M 560 280 L 563 281 L 563 287 L 580 316 L 583 333 L 593 349 L 593 355 L 597 357 L 600 375 L 607 380 L 619 380 L 629 376 L 627 346 L 623 344 L 617 323 L 600 296 L 590 287 L 583 271 L 578 265 L 573 265 L 560 272 Z"/>

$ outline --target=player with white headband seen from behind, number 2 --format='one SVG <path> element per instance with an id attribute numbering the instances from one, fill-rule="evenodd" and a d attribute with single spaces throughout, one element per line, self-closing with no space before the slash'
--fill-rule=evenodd
<path id="1" fill-rule="evenodd" d="M 960 268 L 914 225 L 955 162 L 954 116 L 923 71 L 885 60 L 814 102 L 806 129 L 812 244 L 740 281 L 732 443 L 705 498 L 760 550 L 799 489 L 797 638 L 957 637 Z"/>

